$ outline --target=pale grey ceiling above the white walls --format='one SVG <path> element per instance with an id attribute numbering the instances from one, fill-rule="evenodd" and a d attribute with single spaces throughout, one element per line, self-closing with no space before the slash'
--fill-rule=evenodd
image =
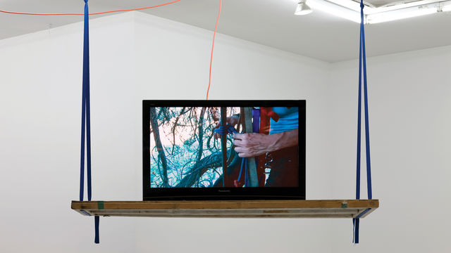
<path id="1" fill-rule="evenodd" d="M 169 0 L 90 0 L 89 11 L 161 4 Z M 296 0 L 223 0 L 218 32 L 327 62 L 358 58 L 359 24 L 321 11 L 293 15 Z M 376 1 L 374 1 L 376 2 Z M 385 0 L 384 2 L 390 2 Z M 391 1 L 395 2 L 395 1 Z M 0 0 L 6 11 L 82 12 L 82 0 Z M 144 13 L 214 30 L 219 0 L 181 0 Z M 30 16 L 0 13 L 0 39 L 80 22 L 82 16 Z M 367 56 L 380 56 L 451 44 L 451 13 L 366 25 Z"/>

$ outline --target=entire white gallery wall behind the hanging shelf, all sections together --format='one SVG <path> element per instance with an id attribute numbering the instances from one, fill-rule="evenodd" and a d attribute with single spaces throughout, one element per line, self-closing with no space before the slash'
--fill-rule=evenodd
<path id="1" fill-rule="evenodd" d="M 93 200 L 141 200 L 141 100 L 204 99 L 211 37 L 143 13 L 91 20 Z M 362 219 L 358 246 L 348 219 L 118 217 L 101 218 L 94 245 L 93 219 L 70 210 L 78 199 L 82 23 L 2 40 L 0 58 L 2 252 L 450 249 L 451 47 L 368 60 L 381 208 Z M 307 196 L 353 198 L 357 66 L 217 34 L 209 98 L 307 99 Z M 362 197 L 365 187 L 362 180 Z"/>

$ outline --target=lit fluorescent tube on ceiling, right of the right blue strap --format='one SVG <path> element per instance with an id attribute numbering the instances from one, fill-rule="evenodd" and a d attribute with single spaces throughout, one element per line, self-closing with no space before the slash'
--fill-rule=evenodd
<path id="1" fill-rule="evenodd" d="M 437 13 L 438 6 L 436 4 L 429 4 L 425 6 L 415 6 L 411 8 L 404 8 L 396 11 L 387 11 L 383 13 L 375 13 L 366 16 L 366 21 L 369 24 L 376 24 L 380 22 L 388 22 L 393 20 L 401 20 L 404 18 L 419 17 Z"/>

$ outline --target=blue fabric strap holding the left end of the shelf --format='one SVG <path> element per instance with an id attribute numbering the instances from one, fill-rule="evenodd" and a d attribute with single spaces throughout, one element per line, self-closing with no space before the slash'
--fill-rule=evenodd
<path id="1" fill-rule="evenodd" d="M 89 11 L 85 1 L 83 38 L 83 82 L 82 82 L 82 140 L 80 154 L 80 201 L 83 201 L 85 183 L 85 138 L 87 164 L 87 200 L 91 201 L 91 114 L 89 105 Z M 99 216 L 94 216 L 94 242 L 99 243 Z"/>

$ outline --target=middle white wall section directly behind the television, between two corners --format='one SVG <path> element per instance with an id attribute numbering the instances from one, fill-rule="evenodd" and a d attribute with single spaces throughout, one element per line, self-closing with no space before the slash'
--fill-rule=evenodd
<path id="1" fill-rule="evenodd" d="M 141 99 L 205 99 L 212 33 L 135 13 Z M 307 195 L 330 198 L 328 63 L 216 35 L 209 99 L 307 99 Z M 139 102 L 139 101 L 137 101 Z M 131 110 L 131 109 L 130 109 Z M 140 127 L 141 119 L 137 120 Z M 138 252 L 328 252 L 329 220 L 141 219 Z M 349 238 L 347 240 L 349 242 Z M 273 242 L 273 243 L 271 243 Z"/>

